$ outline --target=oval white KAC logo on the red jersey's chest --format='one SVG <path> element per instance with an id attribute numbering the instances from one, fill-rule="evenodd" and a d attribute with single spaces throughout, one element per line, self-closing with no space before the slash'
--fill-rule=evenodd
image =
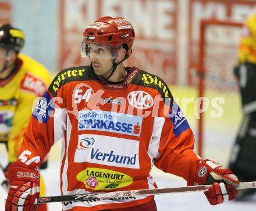
<path id="1" fill-rule="evenodd" d="M 133 91 L 127 96 L 130 105 L 137 109 L 148 109 L 154 105 L 154 100 L 150 94 L 145 91 Z"/>

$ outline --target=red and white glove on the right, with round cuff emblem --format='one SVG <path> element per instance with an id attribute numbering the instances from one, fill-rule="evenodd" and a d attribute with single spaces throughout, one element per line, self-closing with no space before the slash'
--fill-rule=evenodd
<path id="1" fill-rule="evenodd" d="M 233 172 L 212 160 L 202 160 L 187 185 L 209 184 L 212 187 L 204 194 L 211 205 L 236 198 L 237 190 L 234 187 L 239 184 L 239 180 Z"/>

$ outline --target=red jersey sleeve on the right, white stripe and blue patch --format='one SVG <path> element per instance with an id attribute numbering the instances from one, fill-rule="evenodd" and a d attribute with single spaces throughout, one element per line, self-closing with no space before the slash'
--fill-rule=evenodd
<path id="1" fill-rule="evenodd" d="M 164 101 L 159 105 L 159 115 L 154 117 L 150 146 L 154 164 L 189 180 L 201 160 L 193 151 L 194 135 L 177 103 L 168 98 Z"/>

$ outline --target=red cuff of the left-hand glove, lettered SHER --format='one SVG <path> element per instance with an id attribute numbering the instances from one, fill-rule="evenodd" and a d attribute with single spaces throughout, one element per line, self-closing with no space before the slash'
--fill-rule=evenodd
<path id="1" fill-rule="evenodd" d="M 9 165 L 8 171 L 5 173 L 6 179 L 9 181 L 9 184 L 12 181 L 31 181 L 33 183 L 40 184 L 40 174 L 22 163 L 15 162 Z"/>

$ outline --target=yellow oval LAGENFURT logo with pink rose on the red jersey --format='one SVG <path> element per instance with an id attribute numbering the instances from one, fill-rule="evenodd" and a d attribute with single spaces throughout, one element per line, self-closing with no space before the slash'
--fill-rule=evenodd
<path id="1" fill-rule="evenodd" d="M 119 171 L 87 168 L 77 174 L 77 180 L 86 188 L 95 190 L 123 188 L 133 183 L 133 178 Z"/>

